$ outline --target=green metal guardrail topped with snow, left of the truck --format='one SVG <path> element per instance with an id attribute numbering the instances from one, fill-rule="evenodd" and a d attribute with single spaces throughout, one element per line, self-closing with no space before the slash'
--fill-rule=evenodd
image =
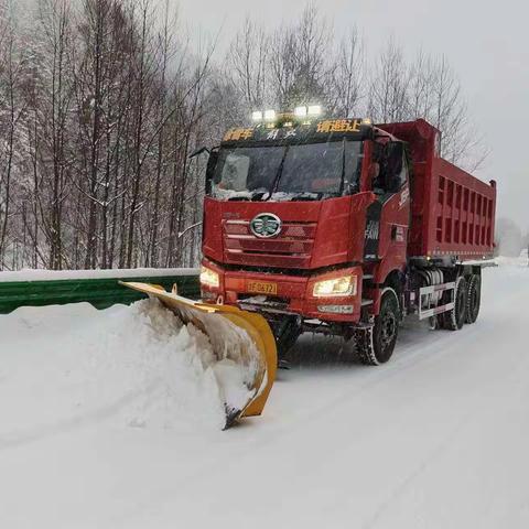
<path id="1" fill-rule="evenodd" d="M 35 281 L 0 281 L 0 314 L 8 314 L 19 306 L 64 305 L 87 302 L 96 309 L 107 309 L 117 303 L 130 305 L 145 298 L 119 284 L 119 281 L 139 281 L 160 284 L 165 290 L 177 285 L 180 295 L 197 300 L 201 287 L 197 273 L 179 276 L 139 276 L 102 279 L 57 279 Z"/>

